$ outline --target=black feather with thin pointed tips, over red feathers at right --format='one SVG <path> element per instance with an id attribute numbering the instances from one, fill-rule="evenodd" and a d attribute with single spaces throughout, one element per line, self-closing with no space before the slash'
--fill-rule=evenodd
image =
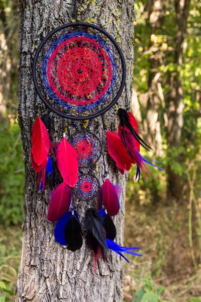
<path id="1" fill-rule="evenodd" d="M 120 123 L 123 129 L 123 135 L 124 135 L 124 140 L 125 140 L 125 132 L 124 132 L 124 127 L 127 126 L 129 128 L 129 130 L 131 131 L 131 133 L 133 134 L 133 136 L 135 137 L 135 139 L 139 142 L 139 144 L 141 144 L 141 146 L 143 146 L 143 148 L 145 148 L 146 150 L 149 151 L 149 149 L 152 149 L 141 137 L 140 135 L 135 131 L 135 129 L 133 128 L 133 126 L 131 125 L 131 123 L 129 122 L 129 115 L 128 112 L 125 109 L 120 108 L 118 110 L 118 116 L 120 119 Z M 126 143 L 126 140 L 125 140 Z M 148 149 L 148 148 L 149 149 Z M 126 146 L 127 148 L 127 146 Z M 127 152 L 128 152 L 128 148 L 127 148 Z"/>

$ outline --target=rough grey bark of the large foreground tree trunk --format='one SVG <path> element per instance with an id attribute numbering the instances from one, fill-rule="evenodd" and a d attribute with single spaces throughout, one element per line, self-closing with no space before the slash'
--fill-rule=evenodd
<path id="1" fill-rule="evenodd" d="M 70 22 L 73 18 L 73 3 L 69 0 L 20 0 L 20 85 L 19 124 L 25 159 L 25 219 L 23 223 L 23 251 L 17 282 L 16 301 L 69 301 L 69 302 L 120 302 L 123 300 L 123 260 L 114 253 L 108 253 L 108 262 L 98 261 L 97 273 L 93 272 L 92 253 L 85 242 L 81 250 L 70 252 L 54 240 L 55 223 L 47 221 L 50 185 L 44 193 L 38 192 L 37 175 L 31 168 L 31 129 L 36 118 L 34 111 L 34 88 L 31 66 L 40 41 L 53 28 Z M 129 97 L 132 90 L 133 64 L 133 0 L 80 0 L 78 16 L 81 21 L 95 23 L 116 37 L 120 42 L 127 63 L 127 86 Z M 121 101 L 122 102 L 122 99 Z M 44 105 L 37 98 L 39 114 L 45 112 Z M 117 108 L 112 109 L 106 120 L 110 129 L 117 127 Z M 61 120 L 50 114 L 54 120 L 54 139 L 60 136 Z M 96 119 L 92 131 L 105 145 L 106 137 Z M 68 121 L 66 121 L 68 124 Z M 70 127 L 68 128 L 70 131 Z M 126 186 L 126 178 L 120 177 L 114 163 L 108 158 L 111 181 Z M 103 163 L 96 169 L 102 183 Z M 125 195 L 125 190 L 124 194 Z M 95 205 L 96 201 L 94 202 Z M 85 204 L 78 205 L 83 222 Z M 123 244 L 124 196 L 120 213 L 115 217 L 118 230 L 117 242 Z"/>

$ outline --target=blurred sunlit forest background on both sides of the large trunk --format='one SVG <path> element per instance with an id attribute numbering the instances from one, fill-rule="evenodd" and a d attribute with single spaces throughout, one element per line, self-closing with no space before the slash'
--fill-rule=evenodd
<path id="1" fill-rule="evenodd" d="M 201 3 L 136 0 L 132 110 L 164 171 L 129 174 L 127 302 L 201 301 Z M 0 0 L 0 302 L 15 299 L 22 248 L 24 168 L 17 122 L 17 0 Z"/>

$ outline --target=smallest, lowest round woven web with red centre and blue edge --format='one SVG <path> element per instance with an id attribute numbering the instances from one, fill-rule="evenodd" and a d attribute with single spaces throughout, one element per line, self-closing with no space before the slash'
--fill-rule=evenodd
<path id="1" fill-rule="evenodd" d="M 78 199 L 88 201 L 96 197 L 98 190 L 99 183 L 96 177 L 91 174 L 82 174 L 79 177 L 73 192 Z"/>

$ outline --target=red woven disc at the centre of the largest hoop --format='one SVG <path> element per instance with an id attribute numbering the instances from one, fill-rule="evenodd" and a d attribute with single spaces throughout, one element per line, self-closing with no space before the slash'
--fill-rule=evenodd
<path id="1" fill-rule="evenodd" d="M 87 105 L 107 92 L 112 66 L 108 53 L 99 43 L 86 37 L 74 37 L 52 52 L 47 75 L 58 98 L 72 105 Z"/>

